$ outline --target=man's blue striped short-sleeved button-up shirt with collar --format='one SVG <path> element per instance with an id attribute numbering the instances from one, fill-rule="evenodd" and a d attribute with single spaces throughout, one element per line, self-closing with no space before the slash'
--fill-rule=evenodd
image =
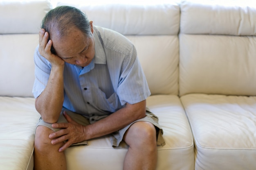
<path id="1" fill-rule="evenodd" d="M 133 44 L 123 35 L 94 26 L 95 55 L 82 68 L 65 63 L 63 107 L 99 120 L 128 102 L 145 100 L 150 91 Z M 36 48 L 34 97 L 45 89 L 51 63 Z"/>

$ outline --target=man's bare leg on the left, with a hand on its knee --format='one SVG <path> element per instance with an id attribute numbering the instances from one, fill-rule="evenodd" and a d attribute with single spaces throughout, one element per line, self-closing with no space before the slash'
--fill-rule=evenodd
<path id="1" fill-rule="evenodd" d="M 66 158 L 64 152 L 58 149 L 63 144 L 51 144 L 49 134 L 52 129 L 38 126 L 35 137 L 34 170 L 66 170 Z"/>

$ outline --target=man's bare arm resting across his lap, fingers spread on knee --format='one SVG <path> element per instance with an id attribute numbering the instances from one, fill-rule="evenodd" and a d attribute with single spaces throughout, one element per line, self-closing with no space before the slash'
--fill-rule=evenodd
<path id="1" fill-rule="evenodd" d="M 88 126 L 77 124 L 65 112 L 64 116 L 68 123 L 52 124 L 53 128 L 60 128 L 62 130 L 49 135 L 50 139 L 53 139 L 52 144 L 67 140 L 59 149 L 59 152 L 63 152 L 71 144 L 113 133 L 135 120 L 144 118 L 146 116 L 146 100 L 133 105 L 127 103 L 124 108 Z"/>

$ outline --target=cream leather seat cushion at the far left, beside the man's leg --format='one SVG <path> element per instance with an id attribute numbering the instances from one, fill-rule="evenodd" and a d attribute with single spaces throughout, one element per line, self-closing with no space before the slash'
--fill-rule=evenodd
<path id="1" fill-rule="evenodd" d="M 0 97 L 0 169 L 33 169 L 34 131 L 40 115 L 34 98 Z"/>

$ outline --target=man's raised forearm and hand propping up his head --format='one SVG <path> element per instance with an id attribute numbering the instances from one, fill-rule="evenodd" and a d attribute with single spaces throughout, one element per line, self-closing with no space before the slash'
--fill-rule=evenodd
<path id="1" fill-rule="evenodd" d="M 57 122 L 64 100 L 63 70 L 64 61 L 51 53 L 52 41 L 48 41 L 49 34 L 41 29 L 39 33 L 39 52 L 51 64 L 52 69 L 47 85 L 36 98 L 36 110 L 40 113 L 42 119 L 47 123 Z"/>

